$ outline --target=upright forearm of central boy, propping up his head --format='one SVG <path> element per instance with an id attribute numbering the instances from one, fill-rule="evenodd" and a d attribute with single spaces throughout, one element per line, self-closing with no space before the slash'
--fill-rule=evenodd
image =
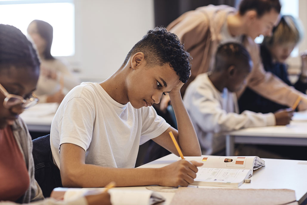
<path id="1" fill-rule="evenodd" d="M 200 156 L 199 141 L 180 92 L 169 93 L 178 127 L 178 143 L 184 156 Z"/>

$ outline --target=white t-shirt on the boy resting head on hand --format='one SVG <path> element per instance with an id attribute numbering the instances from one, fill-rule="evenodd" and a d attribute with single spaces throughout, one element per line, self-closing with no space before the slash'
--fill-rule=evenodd
<path id="1" fill-rule="evenodd" d="M 60 145 L 71 143 L 86 151 L 86 164 L 134 168 L 139 145 L 169 127 L 153 107 L 135 109 L 130 102 L 113 100 L 98 83 L 81 83 L 65 96 L 52 120 L 52 156 L 60 168 Z"/>

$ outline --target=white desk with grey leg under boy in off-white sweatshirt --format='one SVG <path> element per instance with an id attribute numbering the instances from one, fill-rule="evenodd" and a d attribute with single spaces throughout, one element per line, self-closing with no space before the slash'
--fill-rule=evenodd
<path id="1" fill-rule="evenodd" d="M 293 120 L 286 126 L 246 128 L 229 132 L 226 135 L 227 156 L 233 156 L 235 143 L 307 146 L 307 121 Z"/>

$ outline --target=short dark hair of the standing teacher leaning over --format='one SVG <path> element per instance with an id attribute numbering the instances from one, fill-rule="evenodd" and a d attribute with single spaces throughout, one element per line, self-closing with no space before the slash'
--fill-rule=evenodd
<path id="1" fill-rule="evenodd" d="M 280 13 L 279 0 L 242 0 L 239 5 L 240 15 L 244 15 L 249 10 L 255 10 L 258 17 L 262 17 L 266 12 L 274 9 L 278 14 Z"/>

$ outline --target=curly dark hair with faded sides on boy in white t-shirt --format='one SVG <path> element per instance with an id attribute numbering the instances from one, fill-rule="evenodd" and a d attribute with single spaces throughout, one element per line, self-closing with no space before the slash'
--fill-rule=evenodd
<path id="1" fill-rule="evenodd" d="M 165 63 L 169 63 L 176 71 L 180 81 L 183 83 L 188 81 L 192 57 L 185 50 L 179 38 L 165 28 L 156 27 L 153 30 L 149 30 L 142 40 L 138 41 L 129 51 L 122 67 L 137 52 L 144 53 L 146 66 L 162 66 Z"/>

